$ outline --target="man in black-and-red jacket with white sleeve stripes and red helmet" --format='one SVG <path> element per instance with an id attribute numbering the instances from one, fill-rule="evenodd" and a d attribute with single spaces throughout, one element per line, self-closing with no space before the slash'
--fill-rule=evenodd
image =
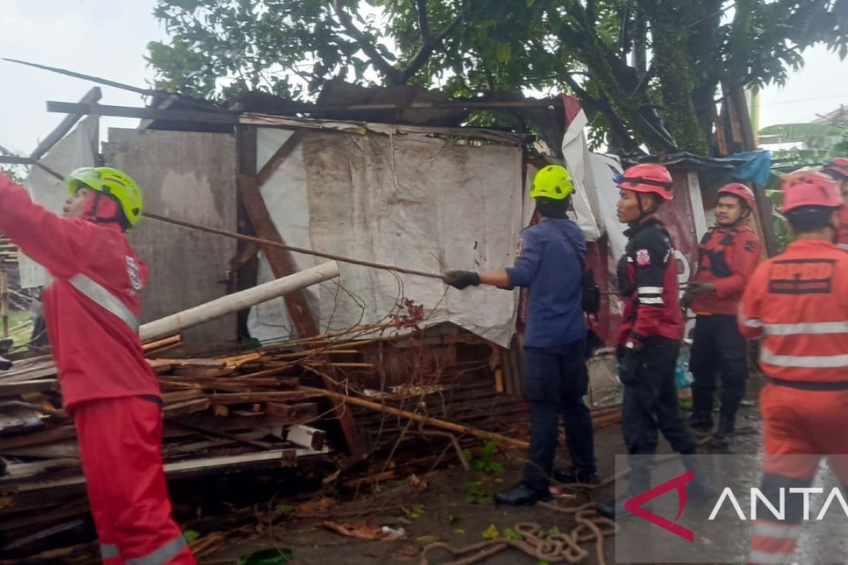
<path id="1" fill-rule="evenodd" d="M 618 286 L 624 301 L 618 330 L 618 376 L 624 385 L 622 427 L 628 450 L 628 496 L 602 501 L 597 510 L 612 518 L 624 512 L 624 501 L 648 490 L 658 431 L 680 453 L 686 468 L 694 468 L 695 438 L 678 407 L 675 382 L 683 313 L 680 310 L 678 264 L 671 235 L 656 212 L 674 197 L 672 176 L 653 163 L 630 167 L 617 187 L 618 221 L 628 224 L 624 256 L 618 263 Z M 702 474 L 689 485 L 693 496 L 710 490 Z"/>

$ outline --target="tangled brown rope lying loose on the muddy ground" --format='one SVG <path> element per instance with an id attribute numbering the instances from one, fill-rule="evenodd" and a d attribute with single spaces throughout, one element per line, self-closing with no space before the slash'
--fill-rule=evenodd
<path id="1" fill-rule="evenodd" d="M 594 502 L 584 504 L 580 507 L 561 507 L 550 502 L 538 502 L 538 506 L 561 512 L 574 514 L 577 526 L 566 534 L 549 535 L 539 537 L 542 526 L 533 522 L 516 523 L 515 530 L 522 536 L 522 540 L 488 540 L 471 544 L 465 547 L 449 546 L 443 541 L 432 543 L 421 552 L 419 565 L 430 565 L 428 554 L 431 551 L 448 551 L 458 560 L 445 563 L 444 565 L 472 565 L 492 557 L 500 551 L 511 547 L 524 552 L 527 556 L 546 561 L 549 563 L 579 563 L 589 557 L 589 551 L 583 549 L 581 544 L 595 542 L 595 551 L 598 553 L 598 562 L 605 565 L 604 538 L 615 535 L 618 531 L 616 523 L 608 518 L 600 517 L 594 510 Z M 468 555 L 472 554 L 472 555 Z M 465 556 L 465 557 L 464 557 Z"/>

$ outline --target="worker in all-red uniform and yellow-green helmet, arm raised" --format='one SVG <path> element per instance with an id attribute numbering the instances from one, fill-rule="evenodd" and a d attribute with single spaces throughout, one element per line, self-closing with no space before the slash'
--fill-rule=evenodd
<path id="1" fill-rule="evenodd" d="M 67 182 L 60 218 L 0 174 L 0 232 L 53 278 L 42 296 L 47 334 L 103 562 L 189 565 L 165 488 L 159 383 L 138 338 L 147 268 L 124 235 L 142 216 L 142 194 L 106 167 L 77 169 Z"/>

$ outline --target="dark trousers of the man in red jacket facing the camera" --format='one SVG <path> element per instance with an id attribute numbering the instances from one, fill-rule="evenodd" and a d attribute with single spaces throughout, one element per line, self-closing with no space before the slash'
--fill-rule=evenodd
<path id="1" fill-rule="evenodd" d="M 692 407 L 695 413 L 712 412 L 717 374 L 722 375 L 722 413 L 735 417 L 745 397 L 748 379 L 747 344 L 739 333 L 734 316 L 698 316 L 695 337 L 689 353 L 692 383 Z"/>

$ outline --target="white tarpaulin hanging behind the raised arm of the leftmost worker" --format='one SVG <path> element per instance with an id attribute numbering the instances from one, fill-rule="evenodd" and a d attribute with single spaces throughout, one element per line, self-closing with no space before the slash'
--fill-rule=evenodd
<path id="1" fill-rule="evenodd" d="M 50 149 L 42 158 L 42 163 L 60 174 L 68 174 L 80 167 L 93 167 L 99 127 L 98 116 L 82 119 L 73 131 Z M 38 202 L 51 212 L 62 213 L 64 201 L 68 198 L 68 190 L 62 180 L 44 169 L 32 167 L 24 186 L 30 192 L 33 202 Z M 31 258 L 21 253 L 18 265 L 21 288 L 47 285 L 47 271 Z"/>

